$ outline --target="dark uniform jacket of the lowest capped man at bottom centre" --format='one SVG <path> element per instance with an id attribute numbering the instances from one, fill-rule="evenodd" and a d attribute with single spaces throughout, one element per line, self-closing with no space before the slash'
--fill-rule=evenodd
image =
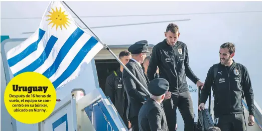
<path id="1" fill-rule="evenodd" d="M 139 111 L 139 130 L 168 130 L 164 108 L 152 98 Z"/>

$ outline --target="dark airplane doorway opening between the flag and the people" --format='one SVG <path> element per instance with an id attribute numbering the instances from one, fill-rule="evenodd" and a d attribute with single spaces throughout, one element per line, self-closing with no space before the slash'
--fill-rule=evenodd
<path id="1" fill-rule="evenodd" d="M 95 66 L 99 86 L 104 91 L 107 76 L 120 67 L 120 63 L 116 59 L 95 59 Z"/>

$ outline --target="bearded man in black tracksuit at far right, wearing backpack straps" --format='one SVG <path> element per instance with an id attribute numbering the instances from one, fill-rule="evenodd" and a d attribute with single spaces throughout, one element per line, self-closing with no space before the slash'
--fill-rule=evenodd
<path id="1" fill-rule="evenodd" d="M 211 86 L 214 95 L 215 124 L 222 131 L 245 131 L 246 124 L 242 106 L 245 97 L 249 117 L 248 125 L 254 124 L 254 95 L 246 67 L 233 60 L 235 45 L 227 42 L 220 46 L 220 63 L 209 68 L 200 95 L 198 109 L 205 108 Z"/>

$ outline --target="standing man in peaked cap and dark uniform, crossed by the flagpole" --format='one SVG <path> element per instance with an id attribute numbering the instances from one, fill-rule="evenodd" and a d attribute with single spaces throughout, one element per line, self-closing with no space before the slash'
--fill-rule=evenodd
<path id="1" fill-rule="evenodd" d="M 143 63 L 148 50 L 148 41 L 141 40 L 131 45 L 128 51 L 132 53 L 132 58 L 125 65 L 136 78 L 148 88 L 148 77 L 144 73 L 141 63 Z M 140 84 L 125 70 L 122 73 L 123 85 L 127 92 L 128 106 L 126 110 L 127 119 L 131 122 L 132 130 L 139 130 L 138 114 L 141 106 L 149 97 Z"/>

